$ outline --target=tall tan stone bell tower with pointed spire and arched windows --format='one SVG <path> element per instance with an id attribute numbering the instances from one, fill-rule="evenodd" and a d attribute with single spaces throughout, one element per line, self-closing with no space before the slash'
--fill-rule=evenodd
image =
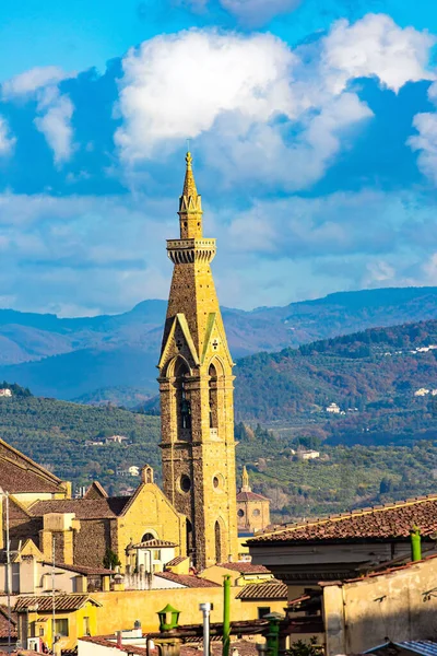
<path id="1" fill-rule="evenodd" d="M 164 492 L 187 517 L 187 550 L 198 569 L 236 559 L 233 360 L 210 263 L 215 239 L 202 236 L 192 157 L 179 200 L 180 238 L 158 364 Z"/>

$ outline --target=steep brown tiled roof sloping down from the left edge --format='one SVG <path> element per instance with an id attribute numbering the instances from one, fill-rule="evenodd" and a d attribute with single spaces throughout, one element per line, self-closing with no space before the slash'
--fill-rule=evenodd
<path id="1" fill-rule="evenodd" d="M 10 494 L 59 492 L 62 481 L 0 440 L 0 487 Z"/>

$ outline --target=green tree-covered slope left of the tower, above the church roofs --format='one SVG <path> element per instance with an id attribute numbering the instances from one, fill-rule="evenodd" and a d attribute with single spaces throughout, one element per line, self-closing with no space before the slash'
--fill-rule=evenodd
<path id="1" fill-rule="evenodd" d="M 0 399 L 0 435 L 74 487 L 94 479 L 111 493 L 137 487 L 134 477 L 117 477 L 118 468 L 149 462 L 161 471 L 160 420 L 114 406 L 92 408 L 36 397 Z M 128 444 L 90 445 L 110 435 Z"/>

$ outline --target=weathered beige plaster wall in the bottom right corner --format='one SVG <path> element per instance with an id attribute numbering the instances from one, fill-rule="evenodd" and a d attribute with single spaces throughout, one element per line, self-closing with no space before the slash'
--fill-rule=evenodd
<path id="1" fill-rule="evenodd" d="M 436 588 L 435 557 L 387 574 L 324 585 L 327 655 L 437 635 Z"/>

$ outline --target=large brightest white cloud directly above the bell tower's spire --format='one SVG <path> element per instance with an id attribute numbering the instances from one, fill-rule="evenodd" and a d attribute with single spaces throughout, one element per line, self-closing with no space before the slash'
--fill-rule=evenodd
<path id="1" fill-rule="evenodd" d="M 223 113 L 251 121 L 293 114 L 288 85 L 295 56 L 272 35 L 215 32 L 160 36 L 123 59 L 116 141 L 126 160 L 152 154 L 156 143 L 197 137 Z"/>

